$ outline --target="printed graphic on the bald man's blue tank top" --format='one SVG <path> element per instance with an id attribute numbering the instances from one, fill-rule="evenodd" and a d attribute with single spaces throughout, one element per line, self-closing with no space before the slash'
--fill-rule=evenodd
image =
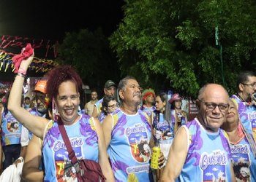
<path id="1" fill-rule="evenodd" d="M 224 151 L 204 152 L 200 158 L 200 168 L 203 170 L 203 181 L 227 181 L 225 166 L 227 157 Z"/>

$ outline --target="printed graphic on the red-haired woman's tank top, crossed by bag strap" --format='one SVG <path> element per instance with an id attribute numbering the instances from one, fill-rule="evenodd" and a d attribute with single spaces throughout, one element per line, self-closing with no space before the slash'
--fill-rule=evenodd
<path id="1" fill-rule="evenodd" d="M 82 155 L 82 138 L 70 139 L 72 149 L 75 151 L 75 156 L 79 159 Z M 69 162 L 67 148 L 63 141 L 56 141 L 53 145 L 53 152 L 56 164 L 56 178 L 58 181 L 77 181 L 75 167 Z"/>

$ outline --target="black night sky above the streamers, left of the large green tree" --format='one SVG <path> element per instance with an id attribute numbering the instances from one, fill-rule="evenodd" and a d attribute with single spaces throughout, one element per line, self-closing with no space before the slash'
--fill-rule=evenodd
<path id="1" fill-rule="evenodd" d="M 65 32 L 102 27 L 105 36 L 123 18 L 123 0 L 1 0 L 0 36 L 63 39 Z"/>

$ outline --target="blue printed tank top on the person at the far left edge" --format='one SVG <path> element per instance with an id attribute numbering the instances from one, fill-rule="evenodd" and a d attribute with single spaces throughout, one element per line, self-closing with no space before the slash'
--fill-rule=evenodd
<path id="1" fill-rule="evenodd" d="M 22 125 L 20 124 L 20 122 L 17 121 L 17 119 L 15 119 L 14 116 L 12 116 L 10 111 L 8 111 L 6 115 L 4 113 L 2 114 L 1 127 L 2 127 L 2 134 L 1 134 L 2 146 L 20 144 Z"/>

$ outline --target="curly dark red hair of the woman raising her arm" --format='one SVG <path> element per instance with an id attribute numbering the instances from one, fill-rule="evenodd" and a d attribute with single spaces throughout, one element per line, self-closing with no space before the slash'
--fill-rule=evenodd
<path id="1" fill-rule="evenodd" d="M 53 68 L 48 72 L 47 77 L 48 82 L 46 92 L 50 100 L 57 97 L 59 94 L 59 85 L 63 82 L 74 82 L 78 92 L 82 88 L 82 79 L 78 75 L 78 72 L 75 71 L 75 68 L 72 68 L 69 65 L 57 66 L 56 68 Z"/>

